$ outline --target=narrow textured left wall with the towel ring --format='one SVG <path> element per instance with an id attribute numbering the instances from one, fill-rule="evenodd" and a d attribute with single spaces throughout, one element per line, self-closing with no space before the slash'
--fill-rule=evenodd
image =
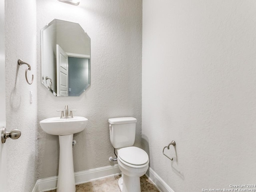
<path id="1" fill-rule="evenodd" d="M 34 0 L 5 1 L 6 56 L 6 129 L 18 128 L 18 140 L 6 140 L 8 192 L 32 191 L 37 179 L 37 63 L 36 63 L 36 2 Z M 25 80 L 28 62 L 34 74 L 32 85 Z M 33 102 L 30 104 L 30 90 Z"/>

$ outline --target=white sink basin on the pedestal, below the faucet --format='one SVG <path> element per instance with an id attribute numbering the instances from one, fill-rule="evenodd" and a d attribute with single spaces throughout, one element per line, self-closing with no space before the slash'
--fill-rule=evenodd
<path id="1" fill-rule="evenodd" d="M 88 119 L 74 116 L 74 118 L 52 117 L 40 121 L 44 132 L 51 135 L 70 135 L 85 129 Z"/>

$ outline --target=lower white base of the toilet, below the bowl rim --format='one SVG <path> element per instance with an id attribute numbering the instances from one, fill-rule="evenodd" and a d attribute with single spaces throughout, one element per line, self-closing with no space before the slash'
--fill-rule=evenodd
<path id="1" fill-rule="evenodd" d="M 118 180 L 118 187 L 121 192 L 141 192 L 140 177 L 130 177 L 122 174 Z"/>

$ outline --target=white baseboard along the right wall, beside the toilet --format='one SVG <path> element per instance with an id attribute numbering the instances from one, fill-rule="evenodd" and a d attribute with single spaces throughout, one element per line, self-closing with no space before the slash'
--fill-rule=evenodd
<path id="1" fill-rule="evenodd" d="M 164 180 L 162 180 L 162 178 L 160 178 L 158 174 L 156 174 L 156 172 L 152 170 L 152 168 L 150 167 L 148 168 L 148 171 L 146 172 L 146 176 L 151 180 L 151 182 L 154 183 L 154 185 L 160 192 L 174 192 L 174 190 L 172 190 L 166 184 L 166 182 L 164 182 Z"/>

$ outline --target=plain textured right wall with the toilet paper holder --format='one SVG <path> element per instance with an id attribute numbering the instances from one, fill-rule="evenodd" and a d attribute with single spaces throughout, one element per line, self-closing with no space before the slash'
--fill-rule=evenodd
<path id="1" fill-rule="evenodd" d="M 175 191 L 256 180 L 256 3 L 144 0 L 142 140 Z M 162 154 L 164 146 L 176 141 Z"/>

